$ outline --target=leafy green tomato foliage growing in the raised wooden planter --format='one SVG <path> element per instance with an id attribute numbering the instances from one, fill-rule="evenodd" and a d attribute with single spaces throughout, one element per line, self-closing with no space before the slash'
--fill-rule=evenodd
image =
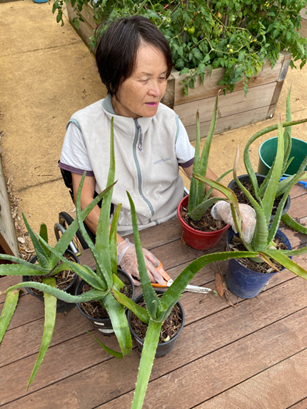
<path id="1" fill-rule="evenodd" d="M 94 10 L 96 23 L 103 22 L 92 37 L 94 49 L 97 38 L 106 26 L 118 17 L 135 14 L 149 18 L 169 41 L 174 67 L 182 74 L 185 93 L 194 88 L 197 75 L 203 81 L 205 73 L 213 68 L 225 68 L 219 82 L 232 91 L 243 81 L 247 92 L 249 81 L 262 68 L 264 59 L 274 66 L 281 51 L 292 54 L 290 66 L 301 60 L 306 63 L 307 39 L 299 34 L 300 11 L 306 0 L 65 0 L 71 2 L 82 21 L 80 11 L 84 4 Z M 62 19 L 64 0 L 56 0 L 53 12 Z"/>

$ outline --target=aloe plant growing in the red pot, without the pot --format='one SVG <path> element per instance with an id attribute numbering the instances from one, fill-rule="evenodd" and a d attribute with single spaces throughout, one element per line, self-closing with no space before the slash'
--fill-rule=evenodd
<path id="1" fill-rule="evenodd" d="M 196 113 L 196 146 L 195 146 L 195 158 L 193 164 L 193 173 L 206 176 L 207 167 L 208 167 L 208 158 L 210 152 L 210 146 L 212 142 L 212 137 L 214 134 L 216 116 L 217 116 L 217 107 L 218 107 L 218 96 L 215 100 L 213 116 L 211 120 L 210 129 L 203 147 L 202 153 L 200 155 L 200 124 L 199 124 L 199 112 Z M 231 170 L 225 172 L 221 175 L 217 181 L 223 179 Z M 219 197 L 210 197 L 212 193 L 212 188 L 206 192 L 205 184 L 195 178 L 191 179 L 190 193 L 189 193 L 189 204 L 188 204 L 188 216 L 193 220 L 197 221 L 202 218 L 204 213 L 216 203 L 218 200 L 224 200 Z"/>

